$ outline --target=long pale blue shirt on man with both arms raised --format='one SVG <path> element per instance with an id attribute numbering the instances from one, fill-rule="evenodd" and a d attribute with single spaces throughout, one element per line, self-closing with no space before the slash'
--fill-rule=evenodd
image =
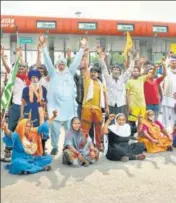
<path id="1" fill-rule="evenodd" d="M 47 67 L 50 84 L 48 89 L 48 114 L 52 117 L 52 112 L 57 110 L 58 116 L 55 120 L 67 121 L 77 116 L 76 85 L 74 75 L 79 67 L 84 49 L 80 48 L 70 67 L 64 71 L 57 72 L 49 57 L 46 47 L 43 48 L 44 63 Z"/>

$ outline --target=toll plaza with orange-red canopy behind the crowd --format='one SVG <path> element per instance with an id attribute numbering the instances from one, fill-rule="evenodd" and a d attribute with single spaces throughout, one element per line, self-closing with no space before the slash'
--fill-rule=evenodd
<path id="1" fill-rule="evenodd" d="M 95 48 L 100 44 L 110 53 L 109 64 L 115 64 L 121 60 L 127 31 L 132 37 L 133 49 L 139 49 L 140 56 L 153 62 L 167 55 L 169 50 L 176 53 L 176 23 L 1 16 L 1 44 L 10 64 L 15 61 L 17 39 L 25 62 L 28 65 L 35 64 L 38 36 L 41 33 L 48 38 L 48 50 L 53 63 L 58 57 L 66 56 L 67 48 L 71 49 L 74 57 L 79 49 L 80 38 L 87 35 L 90 63 L 97 61 Z"/>

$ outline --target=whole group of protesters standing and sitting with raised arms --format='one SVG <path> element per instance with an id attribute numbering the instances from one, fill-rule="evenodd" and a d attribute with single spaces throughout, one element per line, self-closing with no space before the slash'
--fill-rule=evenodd
<path id="1" fill-rule="evenodd" d="M 71 58 L 52 63 L 44 35 L 39 36 L 36 64 L 27 68 L 18 48 L 18 72 L 8 114 L 2 115 L 1 139 L 12 174 L 51 170 L 64 127 L 62 161 L 74 167 L 96 163 L 100 153 L 113 161 L 144 160 L 147 153 L 176 146 L 176 55 L 153 63 L 128 50 L 124 64 L 109 65 L 96 47 L 99 62 L 90 66 L 88 39 Z M 43 54 L 44 64 L 41 64 Z M 13 71 L 1 59 L 7 76 Z M 17 61 L 18 62 L 18 61 Z M 17 62 L 15 65 L 17 65 Z M 4 82 L 4 81 L 3 81 Z M 5 81 L 8 83 L 8 77 Z M 1 88 L 1 97 L 3 97 Z M 106 139 L 105 139 L 106 138 Z M 106 140 L 106 141 L 105 141 Z M 51 141 L 51 154 L 46 142 Z"/>

